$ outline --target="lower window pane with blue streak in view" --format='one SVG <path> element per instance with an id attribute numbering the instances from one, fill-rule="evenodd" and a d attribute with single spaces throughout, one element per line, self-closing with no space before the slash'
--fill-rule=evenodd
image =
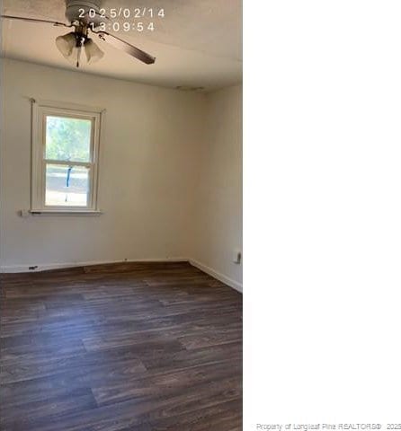
<path id="1" fill-rule="evenodd" d="M 85 166 L 46 166 L 46 206 L 87 207 L 89 169 Z"/>

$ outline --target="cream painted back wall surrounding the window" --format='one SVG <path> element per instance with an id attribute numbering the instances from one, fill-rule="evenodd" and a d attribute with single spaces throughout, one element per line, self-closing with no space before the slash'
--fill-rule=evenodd
<path id="1" fill-rule="evenodd" d="M 146 67 L 146 66 L 144 66 Z M 2 59 L 0 266 L 187 257 L 206 98 Z M 102 216 L 29 216 L 31 101 L 103 107 Z"/>

